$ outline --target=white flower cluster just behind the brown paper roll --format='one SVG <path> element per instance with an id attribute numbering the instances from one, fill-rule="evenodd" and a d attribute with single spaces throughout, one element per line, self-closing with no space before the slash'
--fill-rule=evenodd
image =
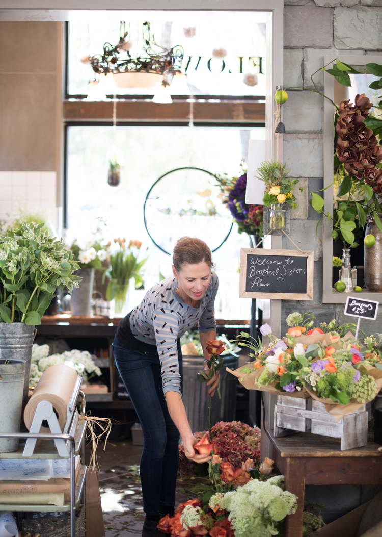
<path id="1" fill-rule="evenodd" d="M 94 364 L 91 354 L 87 351 L 75 349 L 49 356 L 49 345 L 33 345 L 30 386 L 37 386 L 42 373 L 56 364 L 64 364 L 75 369 L 77 373 L 83 373 L 84 381 L 88 379 L 88 375 L 101 375 L 100 368 Z"/>

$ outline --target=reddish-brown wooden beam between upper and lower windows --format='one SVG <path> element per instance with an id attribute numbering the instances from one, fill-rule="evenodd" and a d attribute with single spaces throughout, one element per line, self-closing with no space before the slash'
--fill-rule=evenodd
<path id="1" fill-rule="evenodd" d="M 190 105 L 186 101 L 159 104 L 152 101 L 117 101 L 117 121 L 189 121 Z M 112 101 L 67 100 L 64 121 L 112 121 Z M 194 102 L 194 121 L 222 123 L 265 123 L 265 103 L 257 101 Z"/>

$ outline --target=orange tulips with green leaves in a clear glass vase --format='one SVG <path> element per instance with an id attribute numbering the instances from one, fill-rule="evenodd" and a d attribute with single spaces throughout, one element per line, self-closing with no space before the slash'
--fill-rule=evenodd
<path id="1" fill-rule="evenodd" d="M 135 288 L 143 285 L 142 267 L 147 257 L 138 262 L 140 241 L 130 241 L 126 246 L 126 238 L 114 239 L 117 250 L 110 256 L 110 267 L 105 275 L 110 280 L 106 289 L 107 300 L 114 300 L 114 314 L 124 316 L 128 306 L 127 296 L 130 279 L 134 278 Z"/>

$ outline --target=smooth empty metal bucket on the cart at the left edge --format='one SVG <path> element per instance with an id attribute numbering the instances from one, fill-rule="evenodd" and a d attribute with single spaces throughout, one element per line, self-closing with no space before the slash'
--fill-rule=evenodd
<path id="1" fill-rule="evenodd" d="M 20 431 L 25 379 L 24 360 L 0 359 L 0 433 Z M 0 453 L 16 451 L 18 438 L 0 438 Z"/>

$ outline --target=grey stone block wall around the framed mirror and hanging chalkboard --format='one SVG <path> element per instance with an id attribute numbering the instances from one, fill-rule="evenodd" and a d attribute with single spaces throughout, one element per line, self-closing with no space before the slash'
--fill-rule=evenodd
<path id="1" fill-rule="evenodd" d="M 284 88 L 288 101 L 282 105 L 285 125 L 282 160 L 293 177 L 306 185 L 302 208 L 291 212 L 291 238 L 302 250 L 314 249 L 314 299 L 282 303 L 282 319 L 292 311 L 311 310 L 320 321 L 336 314 L 334 304 L 322 304 L 322 234 L 319 215 L 308 205 L 311 191 L 323 187 L 323 98 L 311 90 L 311 75 L 324 66 L 327 54 L 376 54 L 382 49 L 382 0 L 285 0 L 284 2 Z M 323 89 L 324 76 L 314 81 Z M 294 248 L 287 237 L 283 248 Z M 337 315 L 343 311 L 338 307 Z M 282 325 L 281 332 L 286 329 Z"/>

